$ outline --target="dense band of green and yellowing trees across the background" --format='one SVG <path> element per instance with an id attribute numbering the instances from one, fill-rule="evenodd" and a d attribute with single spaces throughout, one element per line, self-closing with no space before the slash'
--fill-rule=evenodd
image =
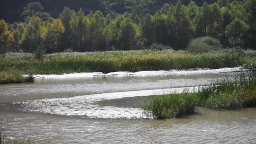
<path id="1" fill-rule="evenodd" d="M 21 21 L 0 20 L 0 53 L 131 50 L 155 44 L 180 50 L 201 36 L 214 37 L 224 47 L 256 45 L 256 0 L 202 5 L 193 1 L 184 5 L 178 0 L 153 14 L 154 0 L 121 0 L 122 6 L 115 0 L 88 0 L 92 1 L 99 3 L 91 11 L 83 6 L 64 7 L 58 15 L 48 13 L 40 2 L 28 3 L 20 13 Z"/>

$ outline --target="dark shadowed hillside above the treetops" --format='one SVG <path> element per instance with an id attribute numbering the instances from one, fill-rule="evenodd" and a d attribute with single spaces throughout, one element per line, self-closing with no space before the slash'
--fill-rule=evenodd
<path id="1" fill-rule="evenodd" d="M 14 21 L 23 20 L 20 14 L 23 8 L 29 2 L 40 2 L 49 12 L 52 17 L 56 18 L 65 6 L 70 9 L 78 10 L 82 8 L 86 14 L 90 10 L 101 10 L 103 14 L 110 13 L 112 16 L 122 14 L 132 9 L 136 10 L 141 15 L 145 13 L 154 14 L 155 11 L 163 7 L 165 3 L 175 4 L 177 0 L 0 0 L 0 19 L 12 23 Z M 201 6 L 204 1 L 208 4 L 217 0 L 193 0 L 198 6 Z M 187 5 L 190 0 L 182 0 L 183 4 Z"/>

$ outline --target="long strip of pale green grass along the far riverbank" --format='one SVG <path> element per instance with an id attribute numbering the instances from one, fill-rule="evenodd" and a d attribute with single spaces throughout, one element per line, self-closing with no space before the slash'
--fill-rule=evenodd
<path id="1" fill-rule="evenodd" d="M 33 54 L 5 54 L 0 71 L 10 69 L 24 74 L 63 74 L 73 72 L 151 71 L 235 67 L 248 57 L 240 53 L 210 52 L 191 54 L 174 50 L 134 50 L 88 53 L 46 54 L 41 60 Z"/>

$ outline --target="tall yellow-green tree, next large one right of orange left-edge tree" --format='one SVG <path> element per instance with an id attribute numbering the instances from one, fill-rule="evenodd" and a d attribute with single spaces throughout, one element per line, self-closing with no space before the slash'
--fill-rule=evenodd
<path id="1" fill-rule="evenodd" d="M 32 17 L 25 29 L 23 35 L 23 48 L 27 52 L 34 52 L 41 42 L 41 19 L 39 17 Z"/>

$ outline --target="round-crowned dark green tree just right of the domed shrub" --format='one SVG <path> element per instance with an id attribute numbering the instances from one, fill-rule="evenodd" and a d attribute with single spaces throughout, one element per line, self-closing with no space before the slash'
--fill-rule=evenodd
<path id="1" fill-rule="evenodd" d="M 233 44 L 233 46 L 237 46 L 243 43 L 243 36 L 245 35 L 247 28 L 248 25 L 244 21 L 235 18 L 226 27 L 225 34 L 229 36 L 229 42 Z"/>

